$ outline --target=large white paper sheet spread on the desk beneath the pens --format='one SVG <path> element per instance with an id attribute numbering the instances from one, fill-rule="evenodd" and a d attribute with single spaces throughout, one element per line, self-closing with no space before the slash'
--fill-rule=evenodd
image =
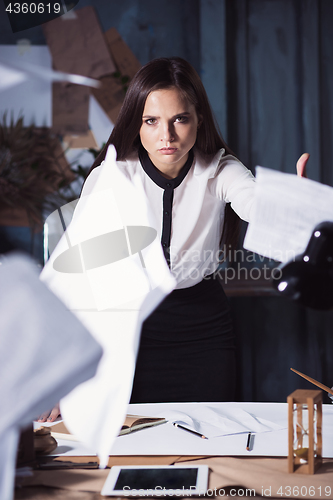
<path id="1" fill-rule="evenodd" d="M 128 412 L 137 415 L 165 416 L 168 423 L 161 425 L 164 429 L 147 429 L 147 433 L 136 432 L 133 439 L 121 441 L 116 439 L 112 455 L 266 455 L 285 456 L 287 454 L 287 405 L 280 403 L 161 403 L 130 405 Z M 193 420 L 204 421 L 202 428 L 212 432 L 209 425 L 221 425 L 221 430 L 213 432 L 208 439 L 200 439 L 173 425 L 174 417 L 181 412 Z M 229 429 L 225 428 L 226 416 L 229 417 Z M 251 416 L 254 418 L 252 419 Z M 171 417 L 171 419 L 170 419 Z M 222 417 L 222 418 L 221 418 Z M 223 418 L 224 417 L 224 418 Z M 255 419 L 270 422 L 276 430 L 256 432 L 252 452 L 246 450 L 248 432 L 247 424 L 254 425 Z M 187 417 L 187 421 L 189 421 Z M 195 425 L 195 423 L 194 423 Z M 191 427 L 189 425 L 189 427 Z M 233 433 L 229 434 L 233 427 Z M 236 429 L 237 427 L 237 429 Z M 257 426 L 259 429 L 259 426 Z M 155 432 L 151 432 L 151 431 Z M 157 432 L 158 431 L 158 432 Z M 235 432 L 236 431 L 236 432 Z M 228 434 L 227 434 L 228 433 Z M 214 435 L 215 434 L 215 435 Z M 225 434 L 225 435 L 222 435 Z M 204 433 L 204 435 L 206 435 Z"/>

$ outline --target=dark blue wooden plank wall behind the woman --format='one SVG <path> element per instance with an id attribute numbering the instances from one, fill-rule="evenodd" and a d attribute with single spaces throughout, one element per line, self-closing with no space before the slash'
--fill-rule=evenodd
<path id="1" fill-rule="evenodd" d="M 224 138 L 249 168 L 294 172 L 307 151 L 308 176 L 333 185 L 332 0 L 80 0 L 76 8 L 86 5 L 142 64 L 173 55 L 192 63 Z M 13 34 L 0 3 L 0 44 L 22 38 L 45 44 L 41 27 Z M 249 292 L 230 300 L 238 399 L 286 401 L 313 388 L 290 367 L 333 385 L 332 312 Z"/>

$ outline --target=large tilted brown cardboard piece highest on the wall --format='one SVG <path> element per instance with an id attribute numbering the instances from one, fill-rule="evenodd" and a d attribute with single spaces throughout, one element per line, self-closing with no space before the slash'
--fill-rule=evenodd
<path id="1" fill-rule="evenodd" d="M 75 19 L 59 17 L 43 24 L 54 69 L 91 78 L 115 72 L 94 7 L 75 14 Z"/>

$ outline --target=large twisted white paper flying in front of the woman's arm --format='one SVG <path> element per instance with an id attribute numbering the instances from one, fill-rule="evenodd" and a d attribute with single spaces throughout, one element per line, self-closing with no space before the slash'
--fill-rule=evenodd
<path id="1" fill-rule="evenodd" d="M 110 146 L 41 274 L 104 349 L 96 376 L 60 401 L 66 427 L 100 466 L 125 419 L 142 322 L 175 286 L 157 227 L 139 176 L 121 172 Z"/>

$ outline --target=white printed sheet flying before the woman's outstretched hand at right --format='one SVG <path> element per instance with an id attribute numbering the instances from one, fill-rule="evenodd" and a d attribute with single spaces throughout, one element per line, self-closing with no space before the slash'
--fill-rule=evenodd
<path id="1" fill-rule="evenodd" d="M 314 227 L 333 221 L 333 188 L 256 167 L 255 202 L 244 248 L 280 262 L 306 249 Z"/>

